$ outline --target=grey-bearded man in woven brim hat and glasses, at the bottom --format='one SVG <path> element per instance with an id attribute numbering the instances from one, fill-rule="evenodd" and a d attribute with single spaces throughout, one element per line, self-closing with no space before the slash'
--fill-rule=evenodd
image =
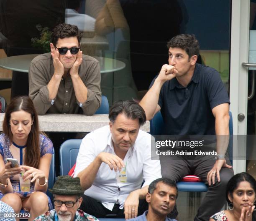
<path id="1" fill-rule="evenodd" d="M 55 209 L 38 216 L 35 218 L 36 221 L 99 221 L 78 209 L 84 193 L 78 177 L 59 176 L 49 191 L 54 196 Z"/>

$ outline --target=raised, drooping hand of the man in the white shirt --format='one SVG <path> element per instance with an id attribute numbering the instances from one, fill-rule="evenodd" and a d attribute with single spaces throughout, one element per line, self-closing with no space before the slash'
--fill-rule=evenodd
<path id="1" fill-rule="evenodd" d="M 123 160 L 112 153 L 102 152 L 98 155 L 98 157 L 100 158 L 101 162 L 108 164 L 110 170 L 113 170 L 114 168 L 115 172 L 121 171 L 122 168 L 125 167 Z"/>

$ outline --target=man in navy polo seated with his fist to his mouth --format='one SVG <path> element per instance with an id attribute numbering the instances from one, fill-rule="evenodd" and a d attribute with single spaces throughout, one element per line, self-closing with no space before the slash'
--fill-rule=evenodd
<path id="1" fill-rule="evenodd" d="M 140 102 L 147 120 L 161 111 L 164 134 L 229 135 L 228 93 L 217 70 L 196 63 L 199 43 L 195 36 L 177 35 L 167 47 L 169 65 L 162 66 Z M 194 173 L 209 184 L 195 221 L 208 221 L 225 204 L 225 187 L 233 170 L 228 158 L 225 159 L 228 142 L 220 138 L 217 136 L 217 156 L 207 160 L 160 156 L 163 177 L 179 181 Z"/>

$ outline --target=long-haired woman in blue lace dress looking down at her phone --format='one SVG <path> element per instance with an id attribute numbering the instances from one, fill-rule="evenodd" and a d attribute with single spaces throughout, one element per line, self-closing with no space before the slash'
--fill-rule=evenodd
<path id="1" fill-rule="evenodd" d="M 8 105 L 0 135 L 0 199 L 15 213 L 23 208 L 30 211 L 29 220 L 52 209 L 45 194 L 51 158 L 52 142 L 39 132 L 38 116 L 33 102 L 27 96 L 14 98 Z M 11 167 L 6 158 L 15 158 L 20 167 Z M 30 190 L 20 189 L 23 180 L 31 179 Z"/>

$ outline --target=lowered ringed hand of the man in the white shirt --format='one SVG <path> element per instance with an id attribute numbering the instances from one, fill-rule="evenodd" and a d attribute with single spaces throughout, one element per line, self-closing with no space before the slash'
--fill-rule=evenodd
<path id="1" fill-rule="evenodd" d="M 125 200 L 124 214 L 125 219 L 135 218 L 138 216 L 139 196 L 135 192 L 131 192 Z"/>

